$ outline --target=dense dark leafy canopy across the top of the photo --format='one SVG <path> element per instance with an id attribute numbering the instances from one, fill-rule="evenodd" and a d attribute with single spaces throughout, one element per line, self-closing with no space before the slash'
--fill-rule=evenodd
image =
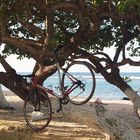
<path id="1" fill-rule="evenodd" d="M 27 55 L 29 49 L 74 43 L 94 52 L 121 46 L 118 51 L 127 49 L 131 55 L 139 55 L 139 48 L 133 45 L 140 40 L 139 0 L 5 0 L 1 1 L 0 17 L 1 40 L 6 43 L 3 52 L 7 54 Z M 26 49 L 18 41 L 35 49 Z"/>

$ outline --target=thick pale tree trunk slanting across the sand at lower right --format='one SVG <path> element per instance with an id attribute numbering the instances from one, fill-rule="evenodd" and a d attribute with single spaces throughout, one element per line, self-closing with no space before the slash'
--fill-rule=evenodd
<path id="1" fill-rule="evenodd" d="M 51 98 L 53 112 L 56 112 L 56 98 Z M 118 114 L 107 110 L 102 104 L 87 103 L 81 106 L 67 104 L 58 116 L 66 116 L 70 120 L 86 124 L 101 132 L 105 140 L 140 140 L 134 129 Z M 54 114 L 57 116 L 57 114 Z"/>

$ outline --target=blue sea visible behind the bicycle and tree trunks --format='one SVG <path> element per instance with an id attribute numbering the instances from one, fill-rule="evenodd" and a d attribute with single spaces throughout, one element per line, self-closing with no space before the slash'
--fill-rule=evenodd
<path id="1" fill-rule="evenodd" d="M 19 73 L 19 74 L 25 75 L 30 73 Z M 88 77 L 88 73 L 86 72 L 81 72 L 81 74 L 82 76 Z M 131 81 L 128 82 L 128 84 L 140 95 L 140 73 L 122 72 L 121 75 L 123 77 L 129 77 L 129 79 L 131 79 Z M 96 87 L 93 98 L 120 100 L 126 97 L 125 94 L 119 88 L 108 83 L 100 74 L 95 74 L 95 78 L 96 78 Z M 58 85 L 58 81 L 59 80 L 57 74 L 54 74 L 45 80 L 44 86 L 45 87 L 56 86 Z M 2 86 L 2 89 L 8 90 L 4 86 Z"/>

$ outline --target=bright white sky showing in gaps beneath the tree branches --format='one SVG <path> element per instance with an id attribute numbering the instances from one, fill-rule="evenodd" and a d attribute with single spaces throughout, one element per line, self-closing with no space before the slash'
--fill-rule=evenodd
<path id="1" fill-rule="evenodd" d="M 105 49 L 105 52 L 113 57 L 114 49 L 109 48 Z M 139 60 L 139 58 L 134 58 L 135 60 Z M 16 55 L 9 56 L 6 61 L 14 68 L 17 72 L 32 72 L 35 61 L 33 59 L 24 58 L 23 60 L 17 60 Z M 0 71 L 3 71 L 3 67 L 0 64 Z M 121 67 L 121 72 L 140 72 L 140 67 L 132 67 L 129 65 L 125 65 Z"/>

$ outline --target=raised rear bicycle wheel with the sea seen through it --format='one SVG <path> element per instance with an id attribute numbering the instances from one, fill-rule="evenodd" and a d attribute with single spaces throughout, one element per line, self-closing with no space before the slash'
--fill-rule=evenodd
<path id="1" fill-rule="evenodd" d="M 79 72 L 80 69 L 81 72 Z M 85 73 L 82 70 L 84 70 Z M 67 76 L 69 74 L 71 78 Z M 67 99 L 70 103 L 75 105 L 85 104 L 92 98 L 96 85 L 95 75 L 91 64 L 85 61 L 74 61 L 66 67 L 65 73 L 62 75 L 62 89 L 64 93 L 67 92 L 66 87 L 71 86 L 72 82 L 70 79 L 73 79 L 73 77 L 79 81 L 82 81 L 84 87 L 83 89 L 80 86 L 75 88 L 70 94 L 67 95 Z"/>

